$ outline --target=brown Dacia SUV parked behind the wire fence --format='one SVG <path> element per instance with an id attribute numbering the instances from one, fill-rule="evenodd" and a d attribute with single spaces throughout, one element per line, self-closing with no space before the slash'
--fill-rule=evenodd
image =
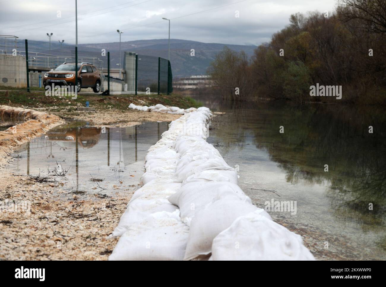
<path id="1" fill-rule="evenodd" d="M 82 62 L 78 64 L 78 92 L 81 88 L 93 88 L 93 91 L 100 92 L 100 72 L 93 64 Z M 44 87 L 52 84 L 59 86 L 75 85 L 75 63 L 64 62 L 55 69 L 44 74 Z"/>

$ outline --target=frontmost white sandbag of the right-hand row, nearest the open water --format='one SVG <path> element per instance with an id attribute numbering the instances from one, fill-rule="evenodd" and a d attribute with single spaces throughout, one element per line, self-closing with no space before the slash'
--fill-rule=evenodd
<path id="1" fill-rule="evenodd" d="M 315 260 L 303 240 L 260 212 L 237 218 L 212 243 L 211 260 Z"/>

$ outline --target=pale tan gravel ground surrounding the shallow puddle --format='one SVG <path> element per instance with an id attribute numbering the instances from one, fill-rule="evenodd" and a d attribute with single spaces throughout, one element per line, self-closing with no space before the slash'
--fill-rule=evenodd
<path id="1" fill-rule="evenodd" d="M 118 186 L 114 196 L 103 194 L 103 190 L 97 195 L 77 194 L 64 190 L 60 176 L 34 178 L 10 173 L 8 166 L 14 160 L 10 153 L 14 148 L 64 123 L 58 116 L 36 114 L 33 119 L 0 132 L 0 260 L 107 260 L 117 243 L 117 239 L 107 236 L 118 225 L 139 186 Z M 132 125 L 178 117 L 138 114 L 79 112 L 79 119 L 97 125 L 122 117 Z"/>

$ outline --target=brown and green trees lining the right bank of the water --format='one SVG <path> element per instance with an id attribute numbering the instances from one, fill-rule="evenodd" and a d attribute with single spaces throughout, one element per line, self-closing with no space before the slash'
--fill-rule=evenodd
<path id="1" fill-rule="evenodd" d="M 208 72 L 230 99 L 334 101 L 313 85 L 341 86 L 341 101 L 386 104 L 386 2 L 343 0 L 335 12 L 297 13 L 252 59 L 225 48 Z M 237 92 L 238 90 L 238 92 Z"/>

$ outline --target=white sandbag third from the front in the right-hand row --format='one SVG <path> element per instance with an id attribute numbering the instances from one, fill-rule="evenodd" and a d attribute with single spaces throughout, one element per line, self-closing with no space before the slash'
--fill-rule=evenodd
<path id="1" fill-rule="evenodd" d="M 190 225 L 191 218 L 208 203 L 224 198 L 252 204 L 238 185 L 221 181 L 188 183 L 169 196 L 168 200 L 179 207 L 181 220 Z"/>

